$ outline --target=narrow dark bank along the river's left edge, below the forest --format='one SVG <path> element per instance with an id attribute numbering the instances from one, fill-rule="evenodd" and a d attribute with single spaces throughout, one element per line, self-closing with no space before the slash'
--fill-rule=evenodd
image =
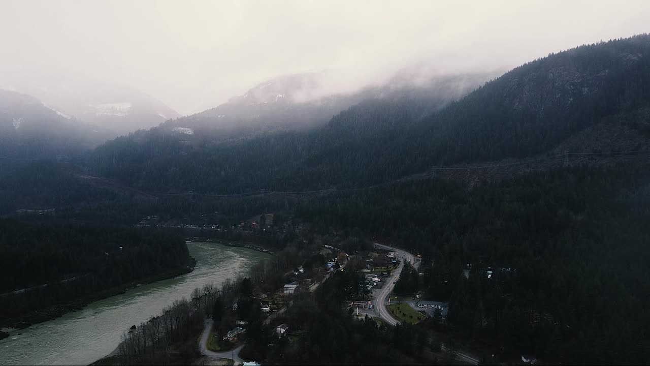
<path id="1" fill-rule="evenodd" d="M 2 319 L 0 320 L 0 328 L 15 328 L 16 330 L 21 330 L 28 328 L 34 324 L 47 322 L 48 320 L 62 317 L 66 313 L 81 310 L 90 303 L 109 298 L 110 296 L 123 294 L 127 292 L 127 290 L 135 289 L 136 287 L 142 286 L 144 284 L 154 283 L 157 281 L 162 281 L 164 279 L 174 278 L 179 275 L 188 274 L 194 270 L 194 266 L 196 266 L 196 259 L 190 257 L 190 263 L 188 266 L 181 266 L 174 268 L 173 270 L 168 270 L 161 274 L 150 275 L 148 277 L 136 279 L 135 281 L 129 281 L 128 283 L 123 283 L 122 285 L 111 287 L 110 289 L 102 290 L 94 294 L 88 294 L 83 298 L 78 298 L 67 303 L 47 307 L 45 309 L 38 309 L 36 311 L 32 311 L 31 313 L 22 315 L 21 317 Z M 0 339 L 3 339 L 1 334 Z"/>

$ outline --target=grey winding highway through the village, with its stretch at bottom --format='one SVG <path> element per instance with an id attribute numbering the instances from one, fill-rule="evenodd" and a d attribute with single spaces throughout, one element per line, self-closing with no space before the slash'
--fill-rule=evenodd
<path id="1" fill-rule="evenodd" d="M 403 251 L 400 249 L 397 249 L 395 247 L 389 247 L 385 246 L 383 244 L 378 244 L 374 243 L 374 246 L 379 247 L 381 249 L 387 249 L 389 251 L 394 251 L 395 252 L 395 258 L 400 258 L 402 259 L 400 261 L 400 265 L 393 271 L 393 275 L 391 275 L 390 279 L 387 281 L 385 287 L 383 287 L 382 291 L 379 293 L 379 295 L 374 299 L 374 308 L 379 314 L 379 317 L 382 318 L 384 322 L 387 322 L 388 324 L 391 324 L 392 326 L 395 326 L 395 324 L 398 323 L 398 321 L 393 318 L 393 315 L 391 315 L 391 312 L 388 311 L 387 309 L 387 302 L 388 302 L 388 296 L 393 292 L 393 288 L 395 287 L 395 281 L 400 277 L 400 273 L 402 272 L 402 268 L 404 266 L 404 263 L 406 262 L 411 262 L 414 268 L 418 268 L 420 266 L 419 262 L 415 261 L 415 256 L 412 255 L 411 253 L 408 253 L 407 251 Z M 456 359 L 459 359 L 460 361 L 464 361 L 467 363 L 471 363 L 473 365 L 478 365 L 478 359 L 476 357 L 473 357 L 471 355 L 458 352 L 458 351 L 452 351 L 449 348 L 447 348 L 445 345 L 442 345 L 442 350 L 448 353 L 453 354 L 456 356 Z"/>

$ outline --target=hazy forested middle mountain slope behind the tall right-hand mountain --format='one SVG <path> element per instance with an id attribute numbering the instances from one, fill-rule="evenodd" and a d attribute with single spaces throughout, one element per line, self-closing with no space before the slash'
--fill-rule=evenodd
<path id="1" fill-rule="evenodd" d="M 372 98 L 341 111 L 328 124 L 306 131 L 285 129 L 251 135 L 248 130 L 235 129 L 224 134 L 224 130 L 203 129 L 200 124 L 183 124 L 191 131 L 174 127 L 174 132 L 165 124 L 109 141 L 89 154 L 88 165 L 98 175 L 162 193 L 301 188 L 315 182 L 320 186 L 320 176 L 338 169 L 321 170 L 320 156 L 345 154 L 370 139 L 390 137 L 462 96 L 484 77 L 445 76 L 419 87 L 376 89 L 370 93 Z M 173 122 L 180 127 L 183 121 Z M 341 173 L 334 171 L 333 175 Z M 331 182 L 325 179 L 322 184 L 330 186 Z"/>

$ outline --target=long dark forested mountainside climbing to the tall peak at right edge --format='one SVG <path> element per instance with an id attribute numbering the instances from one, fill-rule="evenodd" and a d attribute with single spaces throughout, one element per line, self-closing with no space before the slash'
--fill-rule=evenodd
<path id="1" fill-rule="evenodd" d="M 152 130 L 110 141 L 89 162 L 142 190 L 231 193 L 368 186 L 450 163 L 522 159 L 603 123 L 641 136 L 636 150 L 644 150 L 647 85 L 650 36 L 640 35 L 532 61 L 424 119 L 447 100 L 370 100 L 322 128 L 229 141 Z M 577 152 L 617 148 L 606 135 L 595 139 Z"/>

